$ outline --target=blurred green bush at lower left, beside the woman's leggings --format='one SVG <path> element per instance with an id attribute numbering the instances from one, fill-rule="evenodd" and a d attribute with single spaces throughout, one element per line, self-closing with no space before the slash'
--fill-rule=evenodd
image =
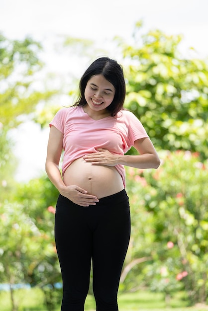
<path id="1" fill-rule="evenodd" d="M 25 283 L 34 262 L 44 256 L 44 239 L 20 204 L 2 204 L 0 228 L 0 281 L 9 284 L 12 311 L 16 311 L 14 286 Z M 47 247 L 49 251 L 49 243 Z"/>

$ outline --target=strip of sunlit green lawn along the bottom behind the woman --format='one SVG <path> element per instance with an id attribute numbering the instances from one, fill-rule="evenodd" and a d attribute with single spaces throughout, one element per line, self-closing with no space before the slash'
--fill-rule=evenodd
<path id="1" fill-rule="evenodd" d="M 18 311 L 47 311 L 44 306 L 43 293 L 38 288 L 16 290 L 15 300 Z M 164 295 L 150 292 L 120 294 L 118 296 L 119 311 L 208 311 L 208 306 L 188 307 L 183 293 L 177 293 L 170 299 L 168 306 Z M 88 296 L 85 303 L 86 311 L 95 311 L 93 296 Z M 0 292 L 0 311 L 11 311 L 8 292 Z M 60 311 L 57 306 L 55 311 Z"/>

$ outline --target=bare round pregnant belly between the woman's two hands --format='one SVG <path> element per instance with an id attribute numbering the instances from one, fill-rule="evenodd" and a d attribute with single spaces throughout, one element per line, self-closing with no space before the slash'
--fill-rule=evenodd
<path id="1" fill-rule="evenodd" d="M 83 158 L 75 160 L 65 171 L 66 186 L 76 185 L 89 194 L 103 198 L 123 190 L 123 181 L 115 167 L 92 165 Z"/>

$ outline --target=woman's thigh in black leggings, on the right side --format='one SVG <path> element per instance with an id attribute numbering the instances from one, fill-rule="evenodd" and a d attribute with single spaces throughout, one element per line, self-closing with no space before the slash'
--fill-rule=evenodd
<path id="1" fill-rule="evenodd" d="M 108 203 L 94 233 L 94 291 L 99 297 L 117 295 L 120 274 L 130 238 L 128 199 Z"/>

